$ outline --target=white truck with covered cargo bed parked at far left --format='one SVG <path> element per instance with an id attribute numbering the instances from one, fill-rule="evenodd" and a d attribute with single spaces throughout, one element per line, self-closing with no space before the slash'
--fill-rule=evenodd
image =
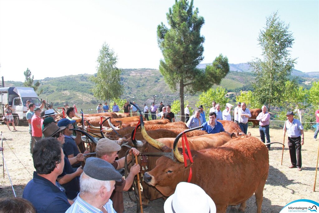
<path id="1" fill-rule="evenodd" d="M 8 103 L 14 109 L 12 113 L 14 124 L 19 126 L 21 122 L 26 122 L 27 100 L 37 107 L 41 105 L 41 101 L 32 87 L 0 87 L 0 120 L 5 115 L 5 104 Z"/>

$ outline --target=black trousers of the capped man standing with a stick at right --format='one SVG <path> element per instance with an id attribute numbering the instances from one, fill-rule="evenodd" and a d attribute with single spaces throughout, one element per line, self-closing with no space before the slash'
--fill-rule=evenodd
<path id="1" fill-rule="evenodd" d="M 297 138 L 288 137 L 288 146 L 291 164 L 301 167 L 301 136 Z"/>

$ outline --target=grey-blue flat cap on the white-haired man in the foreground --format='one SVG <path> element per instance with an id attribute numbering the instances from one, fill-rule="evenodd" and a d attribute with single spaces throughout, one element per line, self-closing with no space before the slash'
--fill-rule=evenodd
<path id="1" fill-rule="evenodd" d="M 86 159 L 83 171 L 91 178 L 98 180 L 122 180 L 122 175 L 115 170 L 112 164 L 96 157 Z"/>

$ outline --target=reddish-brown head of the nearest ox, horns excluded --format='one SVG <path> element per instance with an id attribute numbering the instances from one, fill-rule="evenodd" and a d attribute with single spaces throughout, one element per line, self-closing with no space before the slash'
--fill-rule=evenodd
<path id="1" fill-rule="evenodd" d="M 193 158 L 195 157 L 193 156 Z M 174 193 L 178 183 L 187 181 L 189 169 L 190 166 L 185 168 L 184 164 L 162 156 L 156 161 L 154 169 L 145 172 L 144 181 L 151 186 L 155 186 L 160 193 L 168 197 Z"/>

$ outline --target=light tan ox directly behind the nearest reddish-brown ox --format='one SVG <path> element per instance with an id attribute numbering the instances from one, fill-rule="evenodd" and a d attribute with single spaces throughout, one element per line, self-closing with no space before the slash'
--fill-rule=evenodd
<path id="1" fill-rule="evenodd" d="M 159 152 L 159 150 L 164 152 L 165 150 L 171 149 L 173 147 L 175 138 L 159 138 L 157 140 L 154 140 L 146 133 L 145 127 L 147 126 L 144 126 L 143 124 L 141 124 L 141 127 L 142 127 L 141 132 L 143 134 L 143 137 L 145 138 L 145 140 L 148 141 L 148 143 L 144 143 L 143 147 L 139 149 L 140 153 L 144 153 L 145 155 L 147 155 L 147 153 L 149 152 Z M 195 131 L 196 133 L 200 133 L 200 134 L 204 132 L 201 130 L 195 130 Z M 158 135 L 155 134 L 154 137 L 158 137 Z M 190 148 L 195 150 L 220 146 L 229 140 L 231 140 L 231 137 L 229 136 L 229 134 L 224 132 L 217 133 L 217 134 L 204 134 L 204 135 L 188 138 Z M 181 141 L 182 139 L 180 139 L 178 142 L 179 147 L 182 146 Z M 146 165 L 149 170 L 155 167 L 156 160 L 158 158 L 159 158 L 158 156 L 154 156 L 154 155 L 148 156 Z M 146 205 L 149 201 L 163 197 L 163 195 L 158 190 L 156 190 L 156 188 L 152 186 L 148 186 L 144 182 L 141 182 L 141 184 L 143 186 L 143 204 L 144 205 Z"/>

